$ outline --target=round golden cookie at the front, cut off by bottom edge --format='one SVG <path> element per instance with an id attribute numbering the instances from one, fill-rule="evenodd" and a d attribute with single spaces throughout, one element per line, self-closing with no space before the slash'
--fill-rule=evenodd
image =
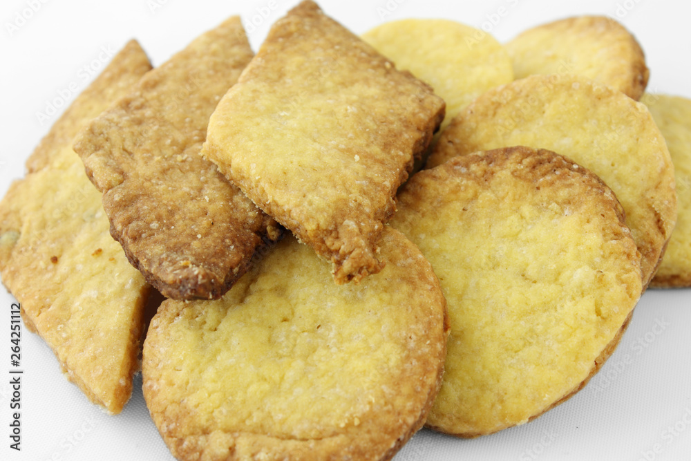
<path id="1" fill-rule="evenodd" d="M 419 429 L 448 322 L 430 264 L 395 229 L 386 267 L 336 285 L 292 236 L 218 301 L 165 301 L 144 398 L 180 460 L 386 460 Z"/>

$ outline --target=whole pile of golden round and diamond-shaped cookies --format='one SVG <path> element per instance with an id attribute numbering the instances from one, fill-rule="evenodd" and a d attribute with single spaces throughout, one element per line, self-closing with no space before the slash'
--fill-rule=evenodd
<path id="1" fill-rule="evenodd" d="M 611 19 L 477 32 L 305 0 L 256 55 L 238 17 L 155 69 L 131 41 L 0 203 L 26 326 L 110 413 L 143 338 L 180 460 L 385 460 L 563 402 L 691 285 L 691 102 Z"/>

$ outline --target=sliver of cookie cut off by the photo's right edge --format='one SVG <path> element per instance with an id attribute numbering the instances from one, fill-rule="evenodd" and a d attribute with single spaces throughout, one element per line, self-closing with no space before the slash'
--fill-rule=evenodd
<path id="1" fill-rule="evenodd" d="M 645 94 L 647 106 L 662 132 L 674 163 L 677 217 L 672 238 L 651 287 L 691 286 L 691 100 Z"/>

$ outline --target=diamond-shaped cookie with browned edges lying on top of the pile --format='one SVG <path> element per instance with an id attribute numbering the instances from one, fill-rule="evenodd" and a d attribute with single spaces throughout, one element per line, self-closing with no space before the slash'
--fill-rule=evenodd
<path id="1" fill-rule="evenodd" d="M 303 1 L 218 104 L 202 155 L 337 283 L 359 281 L 384 267 L 377 238 L 443 118 L 429 86 Z"/>

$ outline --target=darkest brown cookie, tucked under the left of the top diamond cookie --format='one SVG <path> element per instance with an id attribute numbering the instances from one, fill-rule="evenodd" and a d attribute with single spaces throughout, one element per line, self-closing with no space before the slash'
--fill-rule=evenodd
<path id="1" fill-rule="evenodd" d="M 111 234 L 166 297 L 221 297 L 281 235 L 199 155 L 211 113 L 252 55 L 231 17 L 148 73 L 75 142 Z"/>

